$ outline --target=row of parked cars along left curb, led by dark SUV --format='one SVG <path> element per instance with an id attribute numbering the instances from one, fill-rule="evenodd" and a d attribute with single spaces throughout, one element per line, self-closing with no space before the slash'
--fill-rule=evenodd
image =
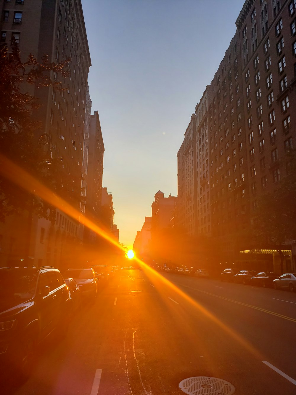
<path id="1" fill-rule="evenodd" d="M 53 331 L 66 335 L 75 311 L 95 301 L 109 278 L 107 266 L 0 268 L 0 366 L 28 377 L 37 345 Z"/>

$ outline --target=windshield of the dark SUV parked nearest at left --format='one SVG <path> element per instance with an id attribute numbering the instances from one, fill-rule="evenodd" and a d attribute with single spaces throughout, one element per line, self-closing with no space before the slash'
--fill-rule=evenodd
<path id="1" fill-rule="evenodd" d="M 32 299 L 36 282 L 36 270 L 0 269 L 0 311 Z"/>

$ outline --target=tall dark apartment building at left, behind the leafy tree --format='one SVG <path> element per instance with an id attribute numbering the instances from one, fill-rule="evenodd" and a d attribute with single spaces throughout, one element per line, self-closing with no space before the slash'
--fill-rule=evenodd
<path id="1" fill-rule="evenodd" d="M 87 138 L 85 123 L 89 110 L 87 76 L 91 66 L 88 41 L 80 0 L 0 0 L 2 19 L 1 41 L 10 45 L 12 38 L 19 44 L 22 60 L 32 53 L 37 60 L 47 54 L 50 62 L 71 58 L 69 76 L 62 79 L 66 90 L 51 87 L 37 89 L 32 86 L 40 109 L 35 113 L 41 120 L 42 130 L 36 141 L 47 136 L 44 149 L 52 158 L 63 163 L 66 182 L 64 196 L 81 214 L 84 196 L 81 192 L 85 175 Z M 58 76 L 52 73 L 52 78 Z M 62 78 L 62 77 L 61 77 Z M 83 227 L 80 218 L 71 218 L 57 211 L 54 223 L 33 218 L 30 253 L 35 265 L 52 264 L 66 267 L 71 244 L 82 242 Z M 77 243 L 78 242 L 78 243 Z"/>

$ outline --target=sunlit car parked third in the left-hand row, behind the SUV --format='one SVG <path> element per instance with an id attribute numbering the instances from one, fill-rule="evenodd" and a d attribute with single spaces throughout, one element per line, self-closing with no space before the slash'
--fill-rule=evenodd
<path id="1" fill-rule="evenodd" d="M 88 269 L 67 269 L 64 277 L 74 278 L 83 297 L 90 297 L 92 300 L 96 299 L 98 279 L 92 267 Z"/>

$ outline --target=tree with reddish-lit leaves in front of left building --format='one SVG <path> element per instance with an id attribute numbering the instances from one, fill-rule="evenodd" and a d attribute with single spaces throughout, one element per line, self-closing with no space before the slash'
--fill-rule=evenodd
<path id="1" fill-rule="evenodd" d="M 70 59 L 58 64 L 43 56 L 37 62 L 29 55 L 21 61 L 19 48 L 14 41 L 11 53 L 6 44 L 0 46 L 0 154 L 28 171 L 37 180 L 49 186 L 63 197 L 63 191 L 73 188 L 71 180 L 64 173 L 59 158 L 49 156 L 49 136 L 37 120 L 40 104 L 28 93 L 30 85 L 37 89 L 52 87 L 63 89 L 57 75 L 67 76 L 66 67 Z M 56 79 L 52 79 L 52 72 Z M 1 158 L 0 158 L 1 166 Z M 69 187 L 67 188 L 67 184 Z M 71 187 L 71 188 L 70 188 Z M 64 192 L 65 194 L 65 192 Z M 65 197 L 65 196 L 64 196 Z M 69 200 L 69 199 L 68 199 Z M 52 210 L 50 210 L 52 209 Z M 9 214 L 34 211 L 39 217 L 50 218 L 54 209 L 26 190 L 14 184 L 13 180 L 0 178 L 0 221 Z"/>

